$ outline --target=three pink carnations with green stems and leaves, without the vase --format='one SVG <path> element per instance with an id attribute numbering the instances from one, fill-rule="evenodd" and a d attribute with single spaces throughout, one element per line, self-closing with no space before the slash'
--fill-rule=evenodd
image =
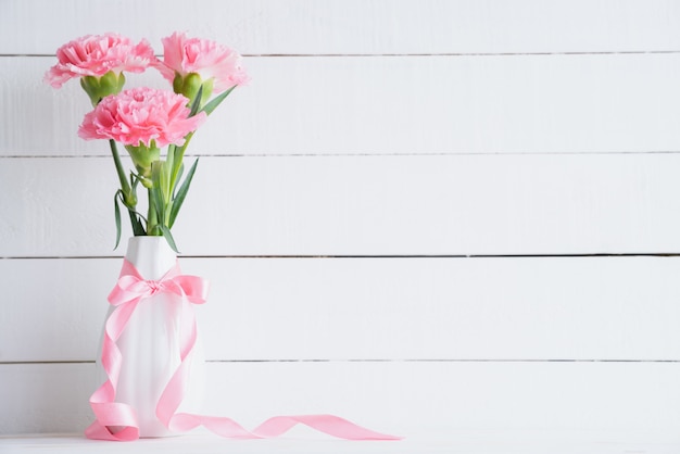
<path id="1" fill-rule="evenodd" d="M 135 45 L 117 34 L 85 36 L 56 51 L 59 63 L 45 81 L 60 88 L 72 78 L 95 108 L 79 127 L 86 139 L 108 139 L 121 184 L 115 192 L 116 247 L 121 240 L 121 205 L 127 209 L 135 236 L 165 237 L 177 247 L 171 229 L 185 201 L 198 159 L 184 176 L 184 156 L 199 126 L 229 93 L 248 80 L 242 58 L 214 41 L 174 33 L 163 38 L 163 60 L 147 40 Z M 123 90 L 125 73 L 158 70 L 173 90 L 148 87 Z M 135 169 L 126 175 L 117 143 L 125 147 Z M 161 149 L 167 147 L 165 157 Z M 147 215 L 138 211 L 138 189 L 147 190 Z"/>

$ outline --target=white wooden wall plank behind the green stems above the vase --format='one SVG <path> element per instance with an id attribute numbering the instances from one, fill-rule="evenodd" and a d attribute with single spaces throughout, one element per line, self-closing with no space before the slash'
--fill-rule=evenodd
<path id="1" fill-rule="evenodd" d="M 174 231 L 207 256 L 671 253 L 679 167 L 664 153 L 204 156 Z M 109 159 L 3 160 L 0 256 L 111 255 L 116 185 Z"/>

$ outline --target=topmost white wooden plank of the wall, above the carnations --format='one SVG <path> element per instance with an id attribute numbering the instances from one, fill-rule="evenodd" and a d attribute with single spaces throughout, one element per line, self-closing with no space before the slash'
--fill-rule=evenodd
<path id="1" fill-rule="evenodd" d="M 150 17 L 162 20 L 150 21 Z M 27 27 L 26 24 L 30 24 Z M 250 54 L 676 51 L 672 0 L 4 0 L 0 53 L 53 53 L 75 37 L 118 31 L 156 49 L 189 30 Z"/>

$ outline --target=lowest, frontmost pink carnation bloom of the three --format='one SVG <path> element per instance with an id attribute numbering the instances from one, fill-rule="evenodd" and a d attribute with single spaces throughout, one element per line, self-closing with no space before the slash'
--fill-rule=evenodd
<path id="1" fill-rule="evenodd" d="M 185 136 L 205 119 L 205 112 L 189 116 L 189 100 L 166 90 L 140 87 L 104 98 L 85 115 L 78 129 L 83 139 L 113 139 L 125 146 L 162 148 L 182 146 Z"/>

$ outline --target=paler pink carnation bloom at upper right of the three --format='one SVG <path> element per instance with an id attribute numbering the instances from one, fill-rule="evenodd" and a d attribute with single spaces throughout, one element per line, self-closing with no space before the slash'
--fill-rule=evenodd
<path id="1" fill-rule="evenodd" d="M 163 62 L 158 62 L 156 67 L 171 84 L 176 74 L 186 77 L 197 73 L 203 80 L 213 79 L 213 92 L 217 94 L 248 81 L 241 55 L 226 46 L 207 39 L 188 38 L 178 31 L 163 38 L 162 42 Z"/>

